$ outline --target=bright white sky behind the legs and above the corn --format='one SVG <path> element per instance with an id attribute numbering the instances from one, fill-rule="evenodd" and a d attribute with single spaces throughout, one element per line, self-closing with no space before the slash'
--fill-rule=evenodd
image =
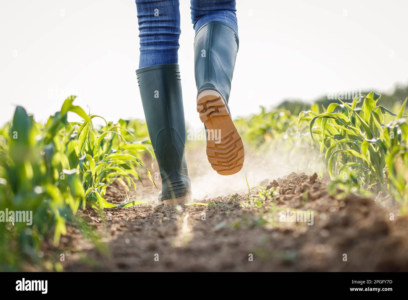
<path id="1" fill-rule="evenodd" d="M 186 122 L 196 127 L 189 7 L 180 0 L 179 63 Z M 284 98 L 408 83 L 407 11 L 406 0 L 238 0 L 233 115 Z M 71 93 L 108 120 L 144 118 L 134 1 L 2 1 L 0 28 L 1 124 L 16 104 L 45 120 Z"/>

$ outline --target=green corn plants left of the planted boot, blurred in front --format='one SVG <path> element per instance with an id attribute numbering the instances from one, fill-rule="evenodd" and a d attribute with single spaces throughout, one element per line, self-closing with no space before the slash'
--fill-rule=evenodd
<path id="1" fill-rule="evenodd" d="M 137 172 L 142 167 L 153 182 L 142 162 L 146 153 L 153 156 L 150 142 L 138 141 L 140 137 L 132 133 L 144 135 L 145 126 L 120 120 L 95 129 L 92 120 L 98 116 L 87 115 L 73 105 L 74 99 L 67 98 L 46 124 L 35 122 L 24 108 L 17 107 L 13 120 L 0 129 L 0 211 L 33 214 L 32 224 L 0 222 L 1 269 L 18 268 L 22 258 L 38 262 L 42 242 L 53 232 L 52 242 L 57 246 L 66 233 L 66 220 L 86 203 L 96 209 L 117 206 L 104 199 L 113 180 L 136 190 L 134 180 L 142 182 Z M 69 112 L 84 122 L 68 122 Z M 131 128 L 139 124 L 144 128 Z M 138 203 L 142 202 L 118 206 Z"/>

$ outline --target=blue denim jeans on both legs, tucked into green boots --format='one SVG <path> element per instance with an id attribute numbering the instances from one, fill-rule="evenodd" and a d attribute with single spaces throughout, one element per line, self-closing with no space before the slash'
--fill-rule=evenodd
<path id="1" fill-rule="evenodd" d="M 136 0 L 139 23 L 139 68 L 177 64 L 180 47 L 178 0 Z M 238 33 L 235 0 L 191 0 L 191 20 L 197 32 L 208 22 L 223 22 Z"/>

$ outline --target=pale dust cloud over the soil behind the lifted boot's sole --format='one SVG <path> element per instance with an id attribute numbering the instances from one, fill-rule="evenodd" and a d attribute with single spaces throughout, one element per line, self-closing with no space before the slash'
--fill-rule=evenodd
<path id="1" fill-rule="evenodd" d="M 286 151 L 287 147 L 280 147 L 279 141 L 271 149 L 260 154 L 255 153 L 258 152 L 255 147 L 245 142 L 244 147 L 245 161 L 241 171 L 234 175 L 223 176 L 214 171 L 208 162 L 205 141 L 187 142 L 186 160 L 193 200 L 247 193 L 245 174 L 249 187 L 252 188 L 265 179 L 272 181 L 291 172 L 322 174 L 325 169 L 323 159 L 319 157 L 317 150 Z"/>

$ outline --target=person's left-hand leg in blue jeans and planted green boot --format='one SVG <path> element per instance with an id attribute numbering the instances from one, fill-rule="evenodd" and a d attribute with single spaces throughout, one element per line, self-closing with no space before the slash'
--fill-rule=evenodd
<path id="1" fill-rule="evenodd" d="M 184 157 L 186 127 L 177 50 L 178 0 L 136 0 L 140 62 L 136 71 L 147 129 L 162 178 L 159 201 L 189 200 L 190 178 Z"/>

